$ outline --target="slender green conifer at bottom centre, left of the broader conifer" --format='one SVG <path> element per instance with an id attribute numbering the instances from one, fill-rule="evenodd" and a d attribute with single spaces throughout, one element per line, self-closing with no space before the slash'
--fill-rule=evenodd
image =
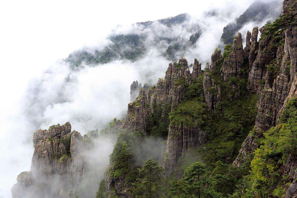
<path id="1" fill-rule="evenodd" d="M 163 167 L 158 166 L 159 161 L 147 159 L 142 169 L 138 169 L 141 178 L 137 178 L 135 183 L 132 183 L 131 194 L 135 198 L 153 198 L 157 197 L 157 192 L 162 183 L 161 174 L 165 173 Z"/>

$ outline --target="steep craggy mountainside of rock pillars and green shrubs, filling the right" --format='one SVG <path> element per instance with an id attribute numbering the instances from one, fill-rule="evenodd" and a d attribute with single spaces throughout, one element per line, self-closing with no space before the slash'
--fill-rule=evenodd
<path id="1" fill-rule="evenodd" d="M 294 2 L 284 1 L 282 15 L 293 14 L 295 17 L 295 8 Z M 167 145 L 165 150 L 159 150 L 161 155 L 164 152 L 164 157 L 155 159 L 161 160 L 166 170 L 166 178 L 180 178 L 184 167 L 194 161 L 205 162 L 213 171 L 211 174 L 215 174 L 215 171 L 219 170 L 219 164 L 222 164 L 221 166 L 229 168 L 222 169 L 222 174 L 227 177 L 226 183 L 219 187 L 218 181 L 217 191 L 223 196 L 233 194 L 232 196 L 236 197 L 240 193 L 247 193 L 246 190 L 239 191 L 240 186 L 244 186 L 249 193 L 254 194 L 256 191 L 253 189 L 257 186 L 251 187 L 249 182 L 259 181 L 247 181 L 244 175 L 249 174 L 248 170 L 251 167 L 251 174 L 257 176 L 259 169 L 254 167 L 259 166 L 257 159 L 263 157 L 258 155 L 257 152 L 260 151 L 257 150 L 252 164 L 250 162 L 255 149 L 260 145 L 263 132 L 278 123 L 278 127 L 292 127 L 295 119 L 292 117 L 293 120 L 289 123 L 287 120 L 279 120 L 279 116 L 284 116 L 284 112 L 290 112 L 287 108 L 295 108 L 295 103 L 292 103 L 292 98 L 296 95 L 297 82 L 294 58 L 297 34 L 294 17 L 283 29 L 276 25 L 282 22 L 282 17 L 275 23 L 267 23 L 260 28 L 259 42 L 258 27 L 253 28 L 252 33 L 248 31 L 245 47 L 242 45 L 241 33 L 238 33 L 233 39 L 233 45 L 226 45 L 223 56 L 220 50 L 215 50 L 211 57 L 211 65 L 206 65 L 204 71 L 200 65 L 198 66 L 197 60 L 194 61 L 192 73 L 189 72 L 187 60 L 184 58 L 179 59 L 178 63 L 170 63 L 165 78 L 159 79 L 157 85 L 152 86 L 147 93 L 140 89 L 137 99 L 128 105 L 127 118 L 121 126 L 123 134 L 130 134 L 140 142 L 143 138 L 156 137 L 159 134 L 152 133 L 148 126 L 158 123 L 157 126 L 160 127 L 160 123 L 165 119 L 165 128 L 168 127 Z M 167 108 L 160 105 L 157 111 L 154 111 L 152 104 L 160 103 L 167 103 Z M 167 111 L 163 111 L 164 109 Z M 159 116 L 155 114 L 157 112 L 160 113 Z M 294 112 L 295 110 L 292 112 L 293 115 Z M 151 118 L 155 119 L 153 125 L 150 123 Z M 295 128 L 293 132 L 294 130 Z M 139 133 L 142 139 L 135 136 Z M 268 136 L 265 136 L 266 139 Z M 129 138 L 118 138 L 118 142 L 122 145 L 127 143 L 128 147 L 132 146 Z M 285 190 L 286 196 L 292 197 L 296 195 L 296 176 L 292 172 L 296 168 L 296 156 L 293 154 L 295 148 L 290 148 L 290 145 L 285 148 L 291 150 L 286 151 L 287 153 L 282 151 L 282 155 L 285 156 L 284 165 L 276 167 L 276 170 L 288 178 L 282 180 L 278 177 L 280 187 L 270 183 L 266 185 L 271 185 L 270 189 Z M 261 149 L 263 150 L 262 147 Z M 131 197 L 129 188 L 131 182 L 137 178 L 136 175 L 132 176 L 135 172 L 121 172 L 114 177 L 118 171 L 114 166 L 118 163 L 116 156 L 119 155 L 116 153 L 120 151 L 123 151 L 123 148 L 113 151 L 110 166 L 105 172 L 108 197 Z M 135 153 L 143 153 L 143 148 L 128 151 L 129 166 L 133 164 L 140 167 L 141 163 L 133 161 Z M 287 171 L 288 169 L 290 171 Z M 235 181 L 239 183 L 238 187 L 235 187 Z M 285 181 L 292 183 L 285 186 Z M 259 186 L 259 189 L 263 188 Z M 163 196 L 170 197 L 167 192 L 168 190 L 163 190 Z M 272 194 L 270 190 L 266 191 L 267 193 Z M 266 194 L 263 193 L 260 197 L 265 197 Z"/>

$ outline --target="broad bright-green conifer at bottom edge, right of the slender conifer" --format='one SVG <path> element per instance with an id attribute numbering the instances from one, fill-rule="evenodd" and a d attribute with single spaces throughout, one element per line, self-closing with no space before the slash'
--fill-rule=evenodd
<path id="1" fill-rule="evenodd" d="M 171 183 L 173 198 L 219 198 L 222 195 L 213 188 L 216 181 L 208 177 L 208 171 L 197 161 L 184 171 L 184 178 Z"/>

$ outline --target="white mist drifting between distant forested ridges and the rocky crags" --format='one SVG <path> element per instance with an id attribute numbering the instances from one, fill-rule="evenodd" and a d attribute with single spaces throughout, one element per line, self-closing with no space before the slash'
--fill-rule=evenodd
<path id="1" fill-rule="evenodd" d="M 156 84 L 158 78 L 164 77 L 168 64 L 174 61 L 163 56 L 170 42 L 160 40 L 159 37 L 166 36 L 184 43 L 197 31 L 198 25 L 202 33 L 197 42 L 186 49 L 184 58 L 189 64 L 197 58 L 202 65 L 205 65 L 206 62 L 211 62 L 214 49 L 222 45 L 220 37 L 224 26 L 241 15 L 251 3 L 250 1 L 224 1 L 223 3 L 210 1 L 197 5 L 195 10 L 189 8 L 188 20 L 176 26 L 168 27 L 154 21 L 149 28 L 131 23 L 132 25 L 124 24 L 109 29 L 110 35 L 145 35 L 143 44 L 146 52 L 136 61 L 113 60 L 107 64 L 92 66 L 83 63 L 80 68 L 73 69 L 67 61 L 61 59 L 51 66 L 43 66 L 42 68 L 45 69 L 38 74 L 28 75 L 29 83 L 20 85 L 21 90 L 15 90 L 20 91 L 19 97 L 13 99 L 15 102 L 9 110 L 5 111 L 5 118 L 1 122 L 3 126 L 0 139 L 2 151 L 0 198 L 11 197 L 10 189 L 16 183 L 17 175 L 22 171 L 30 170 L 34 151 L 32 137 L 37 129 L 48 129 L 53 124 L 69 121 L 72 129 L 83 135 L 93 129 L 105 128 L 115 117 L 120 120 L 125 118 L 127 105 L 130 102 L 131 83 L 138 80 L 142 84 Z M 182 11 L 184 10 L 180 13 Z M 217 14 L 211 16 L 207 14 L 208 11 L 214 11 Z M 151 13 L 152 20 L 155 20 L 153 14 Z M 167 15 L 169 17 L 171 13 L 167 12 Z M 244 43 L 247 30 L 252 31 L 254 26 L 260 28 L 267 20 L 269 18 L 263 19 L 260 24 L 253 22 L 245 24 L 240 30 Z M 95 34 L 92 37 L 97 39 Z M 102 35 L 98 37 L 101 38 L 100 42 L 89 43 L 82 49 L 93 53 L 110 44 L 110 41 Z M 34 59 L 34 54 L 31 58 Z M 38 64 L 46 63 L 45 60 Z M 2 83 L 2 86 L 8 85 Z M 5 107 L 6 104 L 2 105 Z M 91 149 L 87 155 L 90 159 L 90 170 L 94 171 L 88 174 L 96 173 L 97 181 L 86 180 L 83 183 L 93 183 L 92 190 L 96 190 L 97 182 L 103 179 L 115 139 L 102 137 L 95 141 L 97 147 Z M 160 145 L 161 140 L 156 142 Z M 150 145 L 152 142 L 147 144 Z M 145 157 L 149 156 L 156 159 L 158 157 L 149 154 Z"/>

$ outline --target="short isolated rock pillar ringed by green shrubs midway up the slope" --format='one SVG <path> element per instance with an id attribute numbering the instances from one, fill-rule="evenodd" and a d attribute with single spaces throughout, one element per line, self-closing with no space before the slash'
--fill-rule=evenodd
<path id="1" fill-rule="evenodd" d="M 203 76 L 203 93 L 208 110 L 214 110 L 219 102 L 221 102 L 221 89 L 214 84 L 207 70 Z"/>

